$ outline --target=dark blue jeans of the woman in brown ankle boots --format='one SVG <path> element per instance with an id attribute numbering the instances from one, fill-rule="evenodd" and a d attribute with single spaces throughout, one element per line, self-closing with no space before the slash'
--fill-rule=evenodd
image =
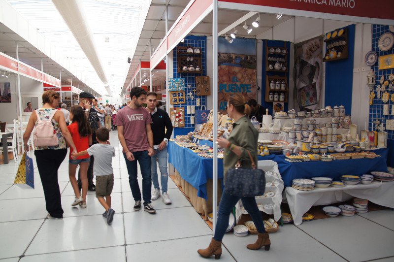
<path id="1" fill-rule="evenodd" d="M 252 217 L 257 231 L 259 233 L 265 233 L 263 217 L 257 207 L 255 197 L 236 197 L 228 195 L 224 191 L 219 203 L 218 221 L 216 223 L 215 235 L 213 236 L 213 239 L 216 241 L 222 241 L 223 236 L 226 233 L 226 229 L 229 227 L 229 218 L 232 208 L 239 199 L 241 199 L 246 211 L 248 211 L 249 215 Z"/>

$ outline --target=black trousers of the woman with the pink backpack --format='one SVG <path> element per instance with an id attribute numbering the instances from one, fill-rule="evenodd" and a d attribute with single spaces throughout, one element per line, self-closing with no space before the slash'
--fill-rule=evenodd
<path id="1" fill-rule="evenodd" d="M 52 217 L 62 218 L 63 209 L 58 182 L 58 169 L 66 158 L 67 149 L 35 150 L 38 172 L 44 189 L 46 210 Z"/>

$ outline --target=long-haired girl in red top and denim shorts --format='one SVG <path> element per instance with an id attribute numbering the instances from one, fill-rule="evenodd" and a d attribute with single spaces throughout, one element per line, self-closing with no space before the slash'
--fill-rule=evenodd
<path id="1" fill-rule="evenodd" d="M 81 152 L 87 150 L 89 145 L 92 144 L 92 131 L 90 130 L 85 111 L 82 109 L 82 107 L 79 105 L 74 105 L 71 107 L 70 121 L 72 121 L 72 124 L 69 125 L 67 129 L 71 133 L 72 140 L 74 141 L 77 151 Z M 87 172 L 89 167 L 89 159 L 89 155 L 86 154 L 73 160 L 70 151 L 68 161 L 68 177 L 70 178 L 71 186 L 75 193 L 75 200 L 71 206 L 79 204 L 82 208 L 86 208 L 86 195 L 88 194 Z M 78 182 L 75 178 L 75 172 L 78 164 L 82 183 L 82 196 L 78 188 Z"/>

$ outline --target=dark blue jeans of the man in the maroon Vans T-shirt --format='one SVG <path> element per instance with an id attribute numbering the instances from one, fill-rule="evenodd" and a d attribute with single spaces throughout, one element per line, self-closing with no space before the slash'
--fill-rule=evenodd
<path id="1" fill-rule="evenodd" d="M 129 161 L 126 158 L 126 154 L 123 156 L 126 161 L 127 172 L 129 173 L 129 184 L 131 189 L 132 197 L 134 201 L 141 201 L 141 192 L 139 190 L 138 180 L 137 180 L 137 161 L 141 168 L 142 175 L 142 198 L 144 199 L 144 205 L 151 202 L 151 190 L 152 190 L 152 179 L 151 179 L 151 157 L 148 155 L 148 151 L 137 151 L 132 152 L 134 156 L 134 161 Z"/>

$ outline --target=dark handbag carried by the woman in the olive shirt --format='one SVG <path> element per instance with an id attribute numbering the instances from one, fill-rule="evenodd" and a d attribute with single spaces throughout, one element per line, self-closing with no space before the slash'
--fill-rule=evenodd
<path id="1" fill-rule="evenodd" d="M 237 197 L 256 197 L 264 195 L 265 173 L 256 168 L 255 161 L 248 150 L 252 168 L 241 168 L 241 161 L 230 168 L 226 174 L 225 192 Z"/>

